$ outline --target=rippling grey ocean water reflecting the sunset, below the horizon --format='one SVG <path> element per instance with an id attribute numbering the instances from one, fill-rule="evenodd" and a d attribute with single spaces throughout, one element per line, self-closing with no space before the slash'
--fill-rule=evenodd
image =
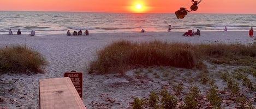
<path id="1" fill-rule="evenodd" d="M 90 33 L 130 33 L 145 31 L 167 32 L 187 31 L 222 31 L 224 27 L 232 31 L 247 31 L 256 28 L 256 15 L 250 14 L 191 14 L 184 19 L 177 19 L 175 14 L 122 14 L 99 12 L 37 12 L 37 11 L 0 11 L 0 34 L 13 30 L 17 34 L 36 35 L 66 34 L 86 29 Z"/>

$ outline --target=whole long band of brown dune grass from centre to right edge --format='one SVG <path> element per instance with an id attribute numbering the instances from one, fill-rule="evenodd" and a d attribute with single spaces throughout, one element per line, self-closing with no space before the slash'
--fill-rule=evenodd
<path id="1" fill-rule="evenodd" d="M 151 41 L 132 43 L 120 40 L 98 52 L 88 72 L 123 73 L 133 68 L 167 66 L 204 69 L 213 64 L 255 66 L 256 44 L 188 44 Z"/>

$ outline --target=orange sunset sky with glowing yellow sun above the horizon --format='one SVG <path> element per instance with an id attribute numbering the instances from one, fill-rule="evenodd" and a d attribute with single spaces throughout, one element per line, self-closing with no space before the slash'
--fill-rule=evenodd
<path id="1" fill-rule="evenodd" d="M 0 3 L 0 11 L 142 13 L 174 13 L 192 5 L 191 0 L 0 0 Z M 202 0 L 198 7 L 193 13 L 256 14 L 256 0 Z"/>

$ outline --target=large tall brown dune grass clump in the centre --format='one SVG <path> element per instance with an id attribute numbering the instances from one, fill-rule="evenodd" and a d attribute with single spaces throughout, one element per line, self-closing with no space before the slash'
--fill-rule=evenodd
<path id="1" fill-rule="evenodd" d="M 132 43 L 118 41 L 110 44 L 91 62 L 89 72 L 105 74 L 113 71 L 123 72 L 129 67 L 174 66 L 193 68 L 194 53 L 189 44 L 153 41 Z"/>

